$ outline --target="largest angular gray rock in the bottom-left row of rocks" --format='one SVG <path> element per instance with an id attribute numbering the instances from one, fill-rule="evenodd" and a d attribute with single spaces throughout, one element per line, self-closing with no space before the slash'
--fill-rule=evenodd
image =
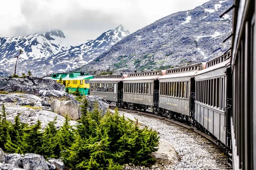
<path id="1" fill-rule="evenodd" d="M 23 168 L 26 170 L 49 170 L 48 164 L 43 156 L 26 153 L 22 158 Z"/>

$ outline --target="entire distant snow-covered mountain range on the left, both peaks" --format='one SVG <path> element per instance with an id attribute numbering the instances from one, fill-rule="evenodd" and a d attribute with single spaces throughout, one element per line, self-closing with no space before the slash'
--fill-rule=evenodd
<path id="1" fill-rule="evenodd" d="M 129 31 L 120 25 L 114 30 L 104 32 L 96 40 L 89 40 L 74 47 L 67 45 L 65 35 L 60 30 L 23 37 L 2 37 L 0 38 L 0 69 L 12 72 L 16 61 L 13 57 L 19 49 L 23 49 L 24 54 L 21 55 L 17 64 L 18 74 L 27 73 L 30 70 L 34 75 L 44 76 L 70 71 L 91 62 L 129 34 Z"/>

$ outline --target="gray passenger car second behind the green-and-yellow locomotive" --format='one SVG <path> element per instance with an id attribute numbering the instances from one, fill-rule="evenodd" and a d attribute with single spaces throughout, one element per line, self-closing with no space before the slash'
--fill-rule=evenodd
<path id="1" fill-rule="evenodd" d="M 123 79 L 124 105 L 130 109 L 143 109 L 157 107 L 159 82 L 158 78 L 165 74 L 165 70 L 146 71 L 140 73 L 130 73 Z"/>

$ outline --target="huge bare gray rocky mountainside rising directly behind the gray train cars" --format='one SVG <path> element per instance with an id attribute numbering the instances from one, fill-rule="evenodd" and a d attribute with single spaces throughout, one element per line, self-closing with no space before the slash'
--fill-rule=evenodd
<path id="1" fill-rule="evenodd" d="M 232 0 L 210 0 L 164 17 L 125 37 L 76 71 L 145 71 L 211 59 L 230 48 L 231 13 L 219 18 Z"/>

